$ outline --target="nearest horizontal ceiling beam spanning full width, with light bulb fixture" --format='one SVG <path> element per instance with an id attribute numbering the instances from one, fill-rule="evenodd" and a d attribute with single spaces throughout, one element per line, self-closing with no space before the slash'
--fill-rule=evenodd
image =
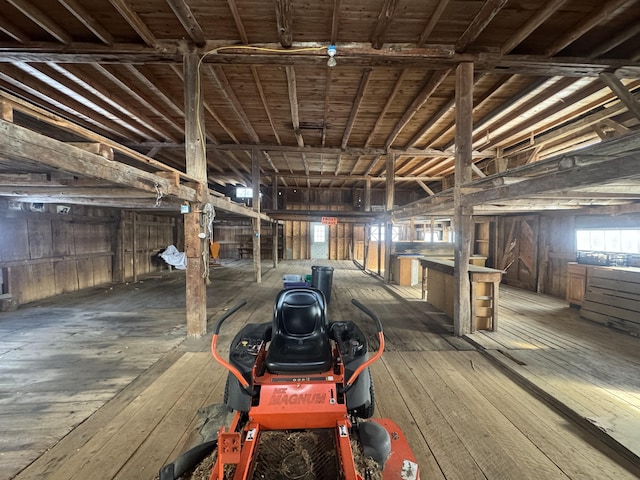
<path id="1" fill-rule="evenodd" d="M 122 1 L 122 0 L 112 0 Z M 326 44 L 317 42 L 294 42 L 293 47 L 313 47 L 314 52 L 291 53 L 279 44 L 262 43 L 254 46 L 265 49 L 282 50 L 282 53 L 233 49 L 228 43 L 207 42 L 200 54 L 208 54 L 224 46 L 224 50 L 207 55 L 204 62 L 210 64 L 235 65 L 326 65 Z M 317 48 L 317 50 L 316 50 Z M 588 57 L 554 57 L 539 55 L 502 55 L 497 52 L 456 54 L 452 46 L 434 45 L 417 48 L 415 44 L 387 44 L 387 48 L 375 50 L 367 44 L 337 44 L 341 66 L 350 67 L 400 67 L 443 69 L 453 68 L 460 62 L 474 62 L 478 73 L 526 74 L 538 76 L 584 77 L 597 76 L 603 71 L 625 70 L 627 76 L 639 76 L 634 69 L 633 58 L 612 59 Z M 175 64 L 182 61 L 184 42 L 158 41 L 155 48 L 141 48 L 137 44 L 74 43 L 60 46 L 57 43 L 31 42 L 16 49 L 15 43 L 0 43 L 0 63 L 2 62 L 57 62 L 122 64 Z"/>

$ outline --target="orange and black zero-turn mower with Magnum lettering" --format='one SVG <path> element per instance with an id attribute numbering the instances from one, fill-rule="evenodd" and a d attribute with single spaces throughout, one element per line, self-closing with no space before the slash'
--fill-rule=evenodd
<path id="1" fill-rule="evenodd" d="M 216 350 L 223 322 L 211 341 L 214 358 L 229 374 L 224 403 L 235 412 L 228 429 L 160 470 L 174 480 L 212 450 L 209 480 L 419 480 L 419 468 L 400 428 L 372 418 L 374 387 L 365 335 L 352 321 L 330 322 L 324 294 L 313 288 L 282 290 L 273 320 L 247 324 L 231 343 L 229 360 Z"/>

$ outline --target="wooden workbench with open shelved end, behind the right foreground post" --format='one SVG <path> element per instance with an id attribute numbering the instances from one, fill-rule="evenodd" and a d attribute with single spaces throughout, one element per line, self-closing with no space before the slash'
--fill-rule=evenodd
<path id="1" fill-rule="evenodd" d="M 422 290 L 426 300 L 453 318 L 454 262 L 420 257 Z M 471 331 L 498 329 L 498 297 L 502 270 L 469 265 Z"/>

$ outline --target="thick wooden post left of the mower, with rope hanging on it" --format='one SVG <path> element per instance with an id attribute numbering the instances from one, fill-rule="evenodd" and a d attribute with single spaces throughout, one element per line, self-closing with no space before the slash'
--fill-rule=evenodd
<path id="1" fill-rule="evenodd" d="M 187 174 L 197 179 L 201 185 L 207 185 L 199 60 L 199 56 L 195 53 L 184 56 L 185 156 Z M 202 200 L 201 197 L 200 201 Z M 203 263 L 205 242 L 199 237 L 201 231 L 200 204 L 192 203 L 191 213 L 185 214 L 184 217 L 184 243 L 187 257 L 187 335 L 190 337 L 200 337 L 207 333 L 207 289 Z"/>

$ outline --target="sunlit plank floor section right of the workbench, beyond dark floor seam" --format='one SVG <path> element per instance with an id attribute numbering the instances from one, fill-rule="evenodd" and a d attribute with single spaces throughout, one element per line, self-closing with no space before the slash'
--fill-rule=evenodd
<path id="1" fill-rule="evenodd" d="M 470 339 L 640 461 L 640 338 L 584 320 L 559 299 L 504 286 L 500 294 L 500 330 Z"/>

